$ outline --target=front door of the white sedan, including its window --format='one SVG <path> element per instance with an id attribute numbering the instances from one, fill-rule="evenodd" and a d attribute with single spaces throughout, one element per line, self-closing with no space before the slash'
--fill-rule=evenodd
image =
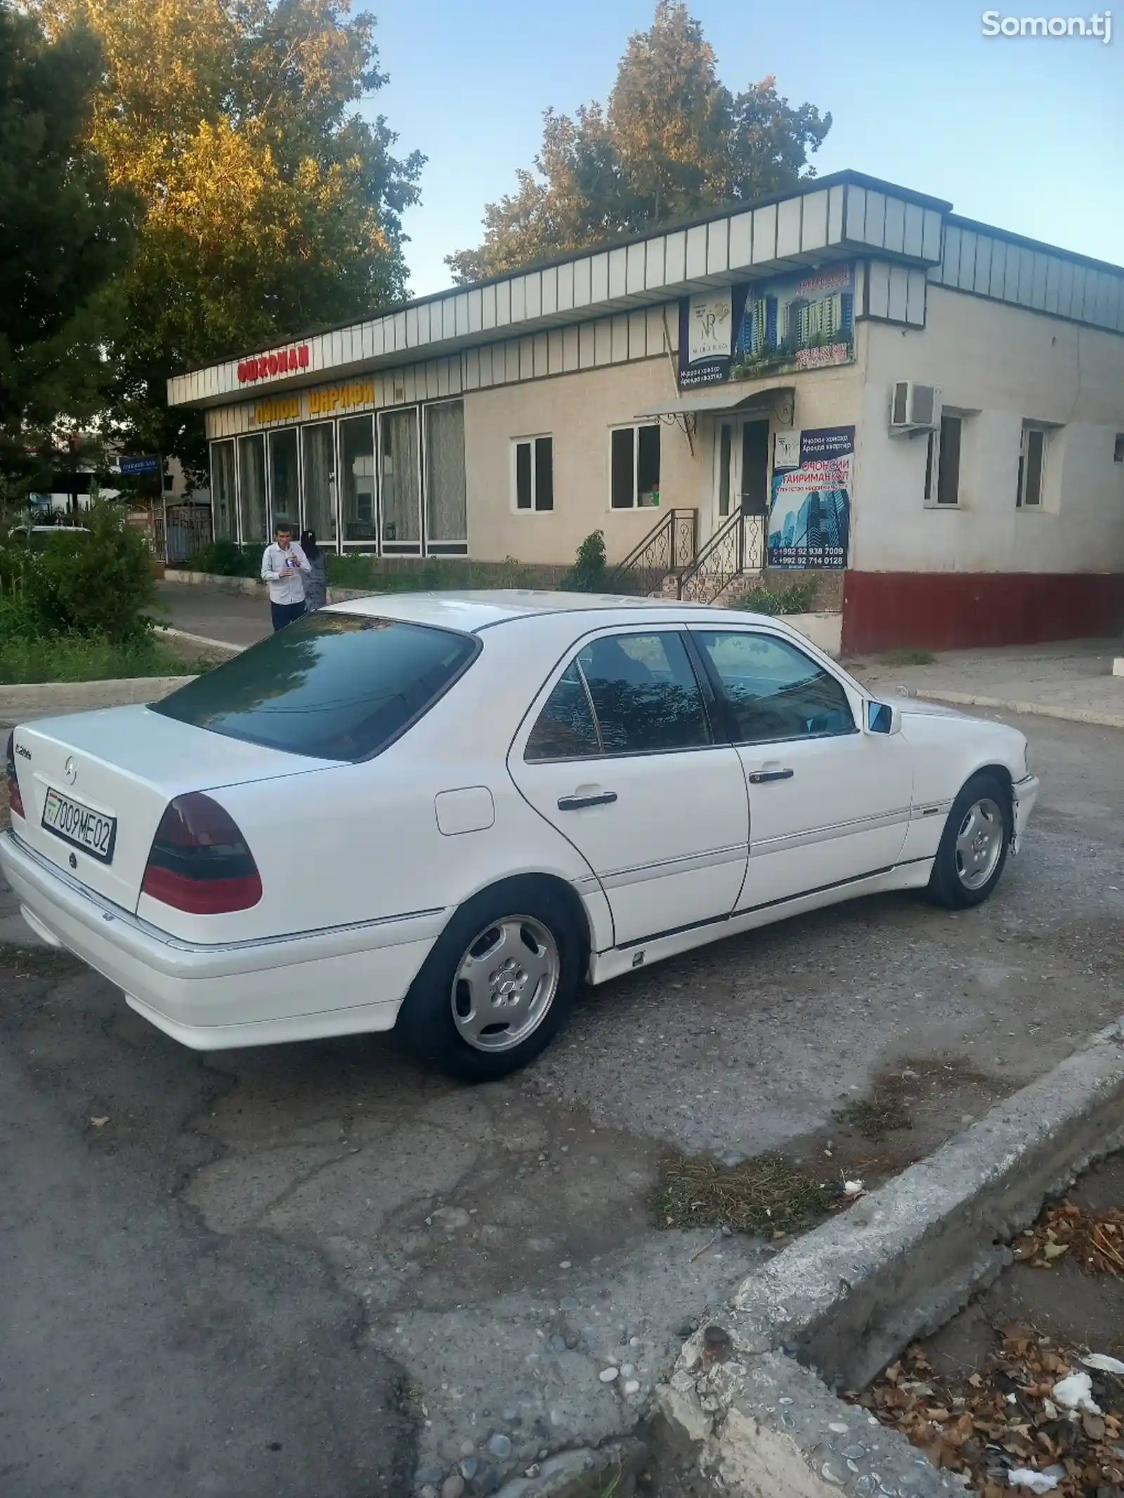
<path id="1" fill-rule="evenodd" d="M 737 909 L 896 863 L 913 797 L 905 739 L 863 733 L 857 694 L 779 634 L 692 628 L 691 635 L 727 706 L 749 792 L 749 867 Z"/>

